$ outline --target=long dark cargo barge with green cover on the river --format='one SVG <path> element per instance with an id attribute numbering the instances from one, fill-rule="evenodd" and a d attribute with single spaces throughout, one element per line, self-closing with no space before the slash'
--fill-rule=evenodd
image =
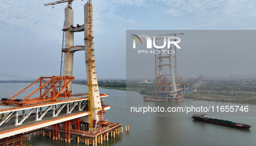
<path id="1" fill-rule="evenodd" d="M 233 128 L 249 129 L 250 127 L 252 127 L 247 124 L 234 123 L 232 121 L 227 121 L 227 120 L 212 119 L 212 118 L 207 117 L 207 114 L 194 114 L 191 117 L 197 121 L 218 124 L 218 125 L 223 125 L 223 126 L 228 126 L 228 127 L 233 127 Z"/>

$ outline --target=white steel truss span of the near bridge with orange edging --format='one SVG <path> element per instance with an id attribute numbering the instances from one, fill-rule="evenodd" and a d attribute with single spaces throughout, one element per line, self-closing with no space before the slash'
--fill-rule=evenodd
<path id="1" fill-rule="evenodd" d="M 0 115 L 2 115 L 0 138 L 87 116 L 88 110 L 85 108 L 87 96 L 82 94 L 70 98 L 57 98 L 55 102 L 42 102 L 22 107 L 2 104 L 0 105 Z M 107 96 L 100 94 L 100 97 Z M 103 107 L 105 110 L 110 109 L 109 105 Z"/>

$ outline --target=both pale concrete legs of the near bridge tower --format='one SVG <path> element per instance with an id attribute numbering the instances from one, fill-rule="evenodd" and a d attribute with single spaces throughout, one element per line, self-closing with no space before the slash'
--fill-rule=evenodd
<path id="1" fill-rule="evenodd" d="M 86 39 L 88 35 L 88 3 L 84 5 L 84 25 L 73 26 L 73 10 L 70 8 L 65 8 L 65 52 L 64 57 L 64 67 L 63 67 L 63 76 L 72 76 L 73 73 L 73 60 L 74 60 L 74 52 L 84 50 L 85 51 L 85 63 L 86 63 L 86 73 L 87 79 L 89 79 L 90 74 L 88 73 L 89 65 L 88 65 L 88 41 Z M 92 18 L 91 18 L 92 19 Z M 74 46 L 74 32 L 84 31 L 84 46 Z M 97 128 L 97 122 L 100 120 L 100 115 L 97 114 L 100 111 L 101 107 L 101 98 L 98 88 L 98 81 L 95 69 L 95 60 L 94 60 L 94 49 L 92 47 L 91 50 L 91 58 L 93 60 L 92 63 L 92 117 L 93 117 L 93 128 Z M 71 83 L 68 85 L 68 90 L 71 90 Z M 88 116 L 82 117 L 84 122 L 88 121 Z"/>

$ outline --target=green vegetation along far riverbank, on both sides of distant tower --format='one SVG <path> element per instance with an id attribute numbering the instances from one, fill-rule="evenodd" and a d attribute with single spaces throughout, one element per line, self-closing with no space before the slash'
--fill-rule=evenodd
<path id="1" fill-rule="evenodd" d="M 19 82 L 21 81 L 8 81 L 8 83 Z M 154 95 L 155 84 L 152 83 L 153 81 L 150 82 L 140 83 L 139 81 L 134 81 L 126 83 L 126 80 L 110 79 L 99 80 L 98 85 L 106 89 L 135 91 L 143 95 Z M 86 80 L 74 80 L 72 83 L 87 85 Z M 256 103 L 256 80 L 207 80 L 206 86 L 200 87 L 196 92 L 184 95 L 184 98 Z"/>

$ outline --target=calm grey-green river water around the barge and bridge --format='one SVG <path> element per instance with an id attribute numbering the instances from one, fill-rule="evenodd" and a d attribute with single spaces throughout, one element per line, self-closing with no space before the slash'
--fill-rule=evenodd
<path id="1" fill-rule="evenodd" d="M 0 98 L 10 97 L 29 83 L 0 83 Z M 73 93 L 86 92 L 87 86 L 72 85 Z M 227 116 L 219 117 L 224 120 L 249 124 L 253 127 L 250 130 L 242 130 L 231 127 L 224 127 L 215 124 L 208 124 L 200 121 L 194 121 L 191 114 L 166 114 L 150 116 L 129 116 L 126 112 L 126 98 L 132 98 L 135 105 L 151 105 L 161 107 L 185 106 L 191 102 L 197 105 L 232 105 L 233 103 L 223 103 L 215 101 L 204 101 L 184 99 L 181 103 L 166 102 L 143 102 L 143 95 L 136 92 L 129 92 L 126 97 L 126 91 L 115 89 L 102 89 L 100 93 L 109 94 L 104 98 L 104 104 L 110 105 L 110 110 L 104 114 L 104 119 L 110 122 L 122 123 L 123 127 L 129 124 L 129 133 L 125 130 L 123 134 L 115 138 L 110 137 L 109 141 L 104 141 L 98 146 L 255 146 L 256 145 L 256 117 L 238 117 Z M 256 111 L 256 105 L 247 105 L 250 111 Z M 168 113 L 170 114 L 170 113 Z M 209 115 L 209 114 L 208 114 Z M 209 117 L 211 117 L 209 115 Z M 29 142 L 32 146 L 84 146 L 84 143 L 60 142 L 52 140 L 49 137 L 33 135 Z"/>

